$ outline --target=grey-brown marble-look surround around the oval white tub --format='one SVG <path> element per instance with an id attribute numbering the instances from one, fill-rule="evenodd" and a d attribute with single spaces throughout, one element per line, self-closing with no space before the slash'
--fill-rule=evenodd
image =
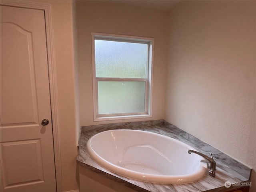
<path id="1" fill-rule="evenodd" d="M 105 130 L 113 129 L 134 129 L 154 132 L 162 135 L 169 136 L 180 140 L 203 154 L 210 155 L 212 153 L 214 160 L 216 161 L 216 176 L 212 177 L 208 173 L 206 175 L 192 183 L 187 184 L 156 184 L 149 182 L 142 182 L 120 176 L 104 167 L 100 166 L 86 151 L 86 142 L 88 139 Z M 104 147 L 104 146 L 102 146 Z M 152 191 L 152 192 L 198 192 L 198 191 L 219 191 L 220 188 L 224 187 L 226 181 L 229 182 L 244 182 L 248 181 L 250 177 L 250 168 L 237 162 L 226 154 L 213 148 L 212 146 L 202 142 L 198 138 L 180 130 L 176 126 L 169 124 L 164 120 L 154 121 L 143 121 L 143 122 L 130 122 L 130 123 L 118 123 L 118 124 L 105 124 L 105 125 L 94 125 L 94 126 L 82 126 L 80 132 L 80 139 L 78 143 L 78 163 L 98 174 L 103 174 L 106 177 L 115 180 L 116 182 L 122 183 L 136 191 Z M 225 188 L 225 187 L 224 187 Z"/>

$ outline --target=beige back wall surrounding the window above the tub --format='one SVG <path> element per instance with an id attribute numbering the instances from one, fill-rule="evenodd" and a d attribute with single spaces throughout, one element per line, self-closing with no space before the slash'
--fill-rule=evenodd
<path id="1" fill-rule="evenodd" d="M 76 6 L 81 125 L 162 119 L 167 46 L 166 12 L 104 1 L 77 1 Z M 93 121 L 91 32 L 155 39 L 152 118 Z"/>

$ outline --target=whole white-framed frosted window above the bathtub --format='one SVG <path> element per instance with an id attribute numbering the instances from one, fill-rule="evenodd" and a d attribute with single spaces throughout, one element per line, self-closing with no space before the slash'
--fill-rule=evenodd
<path id="1" fill-rule="evenodd" d="M 92 33 L 94 120 L 151 117 L 153 43 Z"/>

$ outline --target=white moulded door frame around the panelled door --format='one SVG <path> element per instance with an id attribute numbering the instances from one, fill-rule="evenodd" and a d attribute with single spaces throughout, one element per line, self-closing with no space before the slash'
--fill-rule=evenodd
<path id="1" fill-rule="evenodd" d="M 58 96 L 57 96 L 57 79 L 56 79 L 56 63 L 54 52 L 54 36 L 52 25 L 52 6 L 51 4 L 30 1 L 2 1 L 1 5 L 30 8 L 44 11 L 45 27 L 46 27 L 46 45 L 48 57 L 48 74 L 50 84 L 50 100 L 52 112 L 52 131 L 53 131 L 53 145 L 54 145 L 54 161 L 56 174 L 56 188 L 57 192 L 62 192 L 62 170 L 61 170 L 61 156 L 60 156 L 60 136 L 58 123 Z"/>

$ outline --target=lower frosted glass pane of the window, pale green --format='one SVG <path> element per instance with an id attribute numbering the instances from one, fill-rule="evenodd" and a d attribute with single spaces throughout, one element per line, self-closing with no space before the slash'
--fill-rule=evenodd
<path id="1" fill-rule="evenodd" d="M 144 81 L 98 81 L 98 113 L 144 112 Z"/>

